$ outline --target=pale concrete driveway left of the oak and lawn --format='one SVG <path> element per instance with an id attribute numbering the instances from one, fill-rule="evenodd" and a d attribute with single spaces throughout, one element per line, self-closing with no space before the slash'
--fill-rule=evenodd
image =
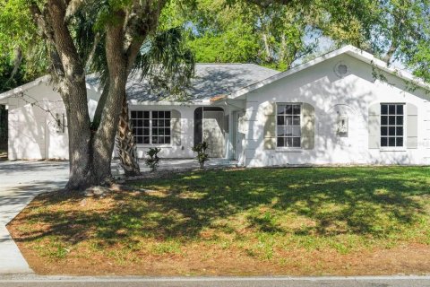
<path id="1" fill-rule="evenodd" d="M 64 187 L 68 162 L 0 162 L 0 274 L 28 274 L 31 269 L 5 225 L 39 193 Z"/>

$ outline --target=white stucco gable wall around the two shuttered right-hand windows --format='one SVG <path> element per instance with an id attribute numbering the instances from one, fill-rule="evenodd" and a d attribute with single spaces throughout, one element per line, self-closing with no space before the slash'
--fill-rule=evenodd
<path id="1" fill-rule="evenodd" d="M 340 78 L 334 66 L 343 61 L 348 74 Z M 404 82 L 386 75 L 389 85 L 374 80 L 372 66 L 348 55 L 331 58 L 280 79 L 246 97 L 245 155 L 249 167 L 287 164 L 430 164 L 430 96 L 408 91 Z M 269 102 L 306 102 L 315 109 L 313 150 L 265 150 L 264 106 Z M 418 108 L 418 148 L 402 152 L 368 149 L 368 107 L 375 102 L 406 102 Z M 348 113 L 348 137 L 336 135 L 337 111 Z"/>

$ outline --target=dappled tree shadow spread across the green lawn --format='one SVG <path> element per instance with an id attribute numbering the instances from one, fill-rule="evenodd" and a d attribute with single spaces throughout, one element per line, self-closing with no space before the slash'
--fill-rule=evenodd
<path id="1" fill-rule="evenodd" d="M 185 242 L 202 239 L 202 230 L 235 233 L 243 228 L 380 238 L 426 216 L 429 171 L 396 167 L 193 172 L 135 184 L 135 190 L 160 193 L 115 193 L 114 204 L 97 211 L 82 211 L 82 198 L 41 196 L 39 207 L 25 221 L 43 222 L 48 228 L 25 233 L 20 240 L 54 235 L 71 244 L 136 238 Z M 49 208 L 64 202 L 72 207 Z"/>

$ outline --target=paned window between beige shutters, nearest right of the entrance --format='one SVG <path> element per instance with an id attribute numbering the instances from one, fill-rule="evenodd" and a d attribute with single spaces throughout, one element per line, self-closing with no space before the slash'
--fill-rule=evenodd
<path id="1" fill-rule="evenodd" d="M 300 147 L 301 143 L 301 105 L 277 105 L 277 146 Z"/>

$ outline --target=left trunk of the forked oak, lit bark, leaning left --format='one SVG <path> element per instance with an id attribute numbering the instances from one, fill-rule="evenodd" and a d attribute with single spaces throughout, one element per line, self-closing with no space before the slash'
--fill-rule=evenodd
<path id="1" fill-rule="evenodd" d="M 35 18 L 40 17 L 36 5 L 32 5 Z M 60 0 L 48 0 L 51 30 L 45 27 L 47 38 L 55 46 L 51 58 L 56 75 L 60 79 L 58 91 L 63 97 L 69 133 L 70 175 L 67 190 L 76 190 L 98 184 L 93 166 L 94 152 L 91 147 L 90 115 L 87 104 L 85 70 L 74 46 L 72 35 L 64 22 L 66 5 Z M 39 18 L 40 19 L 40 18 Z M 44 23 L 46 24 L 46 23 Z M 109 168 L 110 170 L 110 168 Z"/>

